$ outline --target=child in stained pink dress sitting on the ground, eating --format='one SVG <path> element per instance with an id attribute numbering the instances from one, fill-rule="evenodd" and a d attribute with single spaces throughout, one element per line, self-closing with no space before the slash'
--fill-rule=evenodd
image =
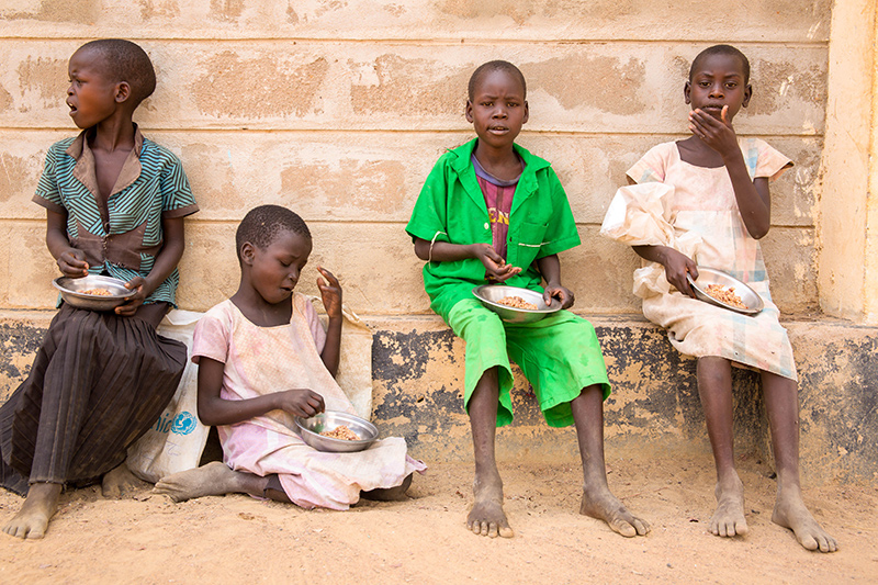
<path id="1" fill-rule="evenodd" d="M 263 205 L 244 218 L 236 244 L 238 292 L 199 322 L 192 348 L 199 417 L 217 426 L 224 463 L 169 475 L 156 492 L 177 502 L 240 492 L 331 509 L 347 509 L 360 496 L 401 497 L 412 473 L 426 469 L 406 454 L 405 439 L 329 453 L 305 445 L 295 430 L 295 416 L 354 412 L 334 378 L 341 340 L 338 280 L 317 269 L 328 331 L 311 301 L 293 291 L 312 249 L 307 226 L 284 207 Z"/>

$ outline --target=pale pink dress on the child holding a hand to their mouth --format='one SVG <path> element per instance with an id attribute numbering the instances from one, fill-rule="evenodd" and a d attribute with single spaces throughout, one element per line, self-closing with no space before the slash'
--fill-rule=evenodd
<path id="1" fill-rule="evenodd" d="M 758 138 L 740 138 L 739 144 L 752 178 L 774 180 L 790 165 Z M 762 249 L 747 234 L 725 167 L 685 162 L 672 142 L 653 147 L 628 176 L 638 184 L 617 192 L 603 234 L 631 245 L 671 246 L 699 266 L 723 270 L 747 283 L 765 303 L 755 317 L 709 305 L 679 293 L 665 279 L 664 267 L 644 260 L 634 272 L 634 293 L 643 299 L 643 315 L 666 328 L 671 344 L 682 353 L 718 356 L 796 380 L 792 347 L 772 302 Z M 614 235 L 607 233 L 610 224 Z"/>

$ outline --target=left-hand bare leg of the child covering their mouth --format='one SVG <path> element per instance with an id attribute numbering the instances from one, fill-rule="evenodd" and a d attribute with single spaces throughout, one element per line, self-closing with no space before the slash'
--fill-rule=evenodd
<path id="1" fill-rule="evenodd" d="M 744 484 L 734 469 L 732 429 L 732 364 L 724 358 L 698 359 L 698 394 L 705 409 L 707 434 L 717 466 L 717 510 L 710 531 L 720 537 L 747 533 L 744 518 Z"/>

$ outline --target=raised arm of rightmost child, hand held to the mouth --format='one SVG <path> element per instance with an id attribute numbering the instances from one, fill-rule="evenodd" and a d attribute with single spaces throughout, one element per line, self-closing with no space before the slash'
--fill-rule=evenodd
<path id="1" fill-rule="evenodd" d="M 732 180 L 738 210 L 751 237 L 759 239 L 772 227 L 772 198 L 768 179 L 751 179 L 738 136 L 728 120 L 729 106 L 722 109 L 722 120 L 696 109 L 689 112 L 689 130 L 710 148 L 719 153 Z"/>

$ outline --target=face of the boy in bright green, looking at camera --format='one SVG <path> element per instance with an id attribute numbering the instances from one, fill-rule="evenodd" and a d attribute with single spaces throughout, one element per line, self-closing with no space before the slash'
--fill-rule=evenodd
<path id="1" fill-rule="evenodd" d="M 528 121 L 525 88 L 508 71 L 495 69 L 483 75 L 466 102 L 466 121 L 479 139 L 495 148 L 511 146 Z"/>

